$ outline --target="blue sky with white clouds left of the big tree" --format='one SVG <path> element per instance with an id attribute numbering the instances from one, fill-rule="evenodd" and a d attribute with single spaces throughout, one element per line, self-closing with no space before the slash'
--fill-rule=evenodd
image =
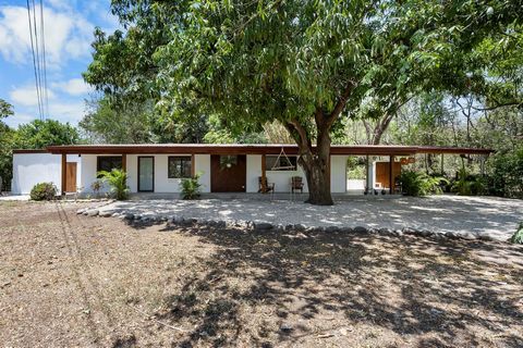
<path id="1" fill-rule="evenodd" d="M 38 14 L 40 1 L 35 3 Z M 110 0 L 42 3 L 49 119 L 76 125 L 93 94 L 82 73 L 92 61 L 94 29 L 112 33 L 118 20 Z M 26 5 L 26 0 L 0 0 L 0 99 L 14 107 L 14 116 L 5 120 L 13 127 L 39 119 Z"/>

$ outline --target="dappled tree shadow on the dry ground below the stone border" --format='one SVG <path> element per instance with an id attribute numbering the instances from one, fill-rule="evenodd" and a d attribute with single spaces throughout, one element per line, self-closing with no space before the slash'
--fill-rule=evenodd
<path id="1" fill-rule="evenodd" d="M 166 296 L 157 313 L 192 327 L 173 346 L 313 345 L 339 326 L 357 333 L 335 333 L 349 345 L 381 336 L 409 337 L 403 343 L 414 347 L 523 346 L 523 266 L 512 262 L 522 260 L 521 248 L 366 234 L 163 229 L 220 250 L 180 293 Z M 495 262 L 491 253 L 499 256 Z"/>

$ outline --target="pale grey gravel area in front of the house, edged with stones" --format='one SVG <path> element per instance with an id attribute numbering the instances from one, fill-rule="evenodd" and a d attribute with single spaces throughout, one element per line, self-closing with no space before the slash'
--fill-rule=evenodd
<path id="1" fill-rule="evenodd" d="M 471 233 L 507 240 L 523 221 L 523 200 L 496 197 L 431 196 L 426 198 L 340 197 L 335 206 L 301 201 L 220 196 L 200 200 L 147 199 L 117 201 L 100 208 L 142 215 L 204 220 L 254 221 L 305 226 L 412 227 L 436 233 Z"/>

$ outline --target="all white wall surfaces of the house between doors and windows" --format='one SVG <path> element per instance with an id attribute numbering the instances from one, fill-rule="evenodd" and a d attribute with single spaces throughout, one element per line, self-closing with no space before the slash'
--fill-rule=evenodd
<path id="1" fill-rule="evenodd" d="M 104 156 L 121 156 L 104 154 Z M 168 157 L 173 154 L 139 154 L 155 158 L 155 192 L 180 192 L 181 179 L 168 178 Z M 183 154 L 181 154 L 183 156 Z M 68 162 L 77 162 L 77 186 L 83 194 L 92 194 L 92 185 L 96 178 L 97 154 L 68 154 Z M 345 192 L 346 190 L 346 156 L 331 157 L 331 190 Z M 262 156 L 247 154 L 246 157 L 246 191 L 258 191 L 258 177 L 262 176 Z M 52 182 L 61 187 L 61 156 L 50 153 L 15 153 L 13 156 L 13 194 L 28 194 L 36 183 Z M 127 154 L 126 166 L 129 187 L 131 192 L 137 191 L 138 154 Z M 210 154 L 195 154 L 195 172 L 200 173 L 202 191 L 210 192 Z M 302 176 L 304 191 L 308 191 L 305 173 L 299 165 L 295 171 L 267 171 L 269 183 L 275 183 L 277 192 L 289 192 L 291 177 Z M 101 192 L 109 191 L 104 185 Z"/>

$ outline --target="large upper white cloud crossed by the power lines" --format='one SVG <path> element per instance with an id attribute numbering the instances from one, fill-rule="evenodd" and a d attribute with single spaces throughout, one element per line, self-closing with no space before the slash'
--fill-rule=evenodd
<path id="1" fill-rule="evenodd" d="M 39 7 L 36 8 L 39 13 Z M 38 16 L 37 16 L 38 22 Z M 50 69 L 87 57 L 94 25 L 70 8 L 44 7 L 46 59 Z M 41 42 L 41 39 L 40 39 Z M 33 64 L 27 9 L 0 7 L 0 53 L 12 63 Z"/>

